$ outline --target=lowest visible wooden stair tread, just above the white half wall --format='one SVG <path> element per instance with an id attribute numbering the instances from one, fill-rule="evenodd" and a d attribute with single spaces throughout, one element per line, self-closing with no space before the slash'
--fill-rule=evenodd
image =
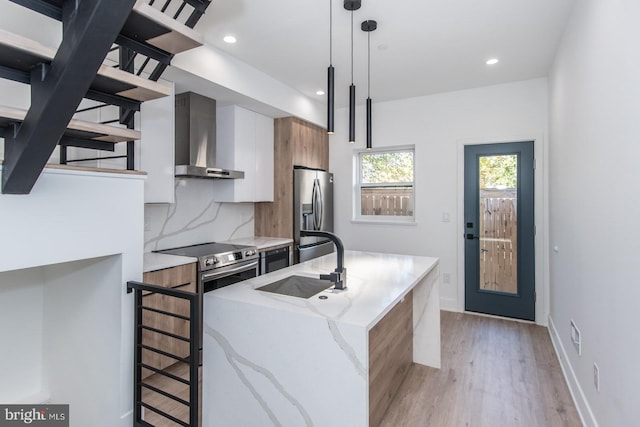
<path id="1" fill-rule="evenodd" d="M 27 115 L 27 110 L 21 108 L 0 105 L 0 128 L 6 127 L 11 122 L 22 122 Z M 140 139 L 140 131 L 103 125 L 101 123 L 87 122 L 71 119 L 67 125 L 66 136 L 92 141 L 124 142 Z"/>

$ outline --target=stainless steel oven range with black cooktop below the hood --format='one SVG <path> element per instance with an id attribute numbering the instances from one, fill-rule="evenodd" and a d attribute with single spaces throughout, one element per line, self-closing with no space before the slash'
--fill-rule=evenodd
<path id="1" fill-rule="evenodd" d="M 202 243 L 199 245 L 156 251 L 169 255 L 198 258 L 198 285 L 200 296 L 200 352 L 202 352 L 202 309 L 206 292 L 258 276 L 258 248 L 228 243 Z M 200 355 L 202 361 L 202 354 Z"/>

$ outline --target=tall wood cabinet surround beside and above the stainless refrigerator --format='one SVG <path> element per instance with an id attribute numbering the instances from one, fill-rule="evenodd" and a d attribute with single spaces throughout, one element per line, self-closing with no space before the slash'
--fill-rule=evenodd
<path id="1" fill-rule="evenodd" d="M 327 130 L 296 117 L 274 122 L 274 198 L 256 203 L 254 234 L 293 238 L 293 167 L 329 170 Z"/>

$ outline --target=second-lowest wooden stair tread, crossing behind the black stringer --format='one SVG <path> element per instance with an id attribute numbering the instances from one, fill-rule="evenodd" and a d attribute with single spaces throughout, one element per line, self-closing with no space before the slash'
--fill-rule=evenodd
<path id="1" fill-rule="evenodd" d="M 35 40 L 0 29 L 0 65 L 28 71 L 39 62 L 50 62 L 56 50 Z M 171 88 L 126 71 L 100 66 L 92 89 L 136 101 L 149 101 L 171 94 Z"/>

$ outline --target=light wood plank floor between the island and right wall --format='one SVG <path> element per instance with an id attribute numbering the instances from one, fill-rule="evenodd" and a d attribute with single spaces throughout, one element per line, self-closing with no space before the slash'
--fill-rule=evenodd
<path id="1" fill-rule="evenodd" d="M 442 368 L 414 365 L 388 427 L 581 426 L 546 328 L 441 313 Z"/>

